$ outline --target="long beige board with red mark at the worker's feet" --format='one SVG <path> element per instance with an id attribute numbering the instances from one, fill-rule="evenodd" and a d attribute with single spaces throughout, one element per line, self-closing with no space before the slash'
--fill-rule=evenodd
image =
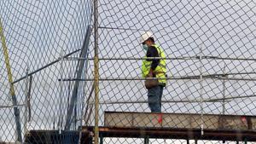
<path id="1" fill-rule="evenodd" d="M 104 126 L 201 129 L 201 121 L 210 130 L 256 130 L 253 116 L 154 112 L 105 112 Z"/>

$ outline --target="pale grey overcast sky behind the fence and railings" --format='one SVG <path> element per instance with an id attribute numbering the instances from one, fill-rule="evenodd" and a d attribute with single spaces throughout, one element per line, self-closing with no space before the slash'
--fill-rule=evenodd
<path id="1" fill-rule="evenodd" d="M 90 1 L 81 0 L 1 0 L 0 17 L 9 48 L 14 79 L 81 49 L 90 20 Z M 256 4 L 253 0 L 205 0 L 205 1 L 99 1 L 99 57 L 140 58 L 145 55 L 139 44 L 144 31 L 154 33 L 156 43 L 166 52 L 166 57 L 193 57 L 196 55 L 222 58 L 255 59 L 256 57 Z M 93 36 L 90 37 L 90 58 L 93 58 Z M 0 44 L 1 45 L 1 44 Z M 1 45 L 2 47 L 2 45 Z M 72 55 L 78 57 L 79 53 Z M 177 78 L 201 73 L 200 60 L 166 60 L 168 76 Z M 142 60 L 101 60 L 101 78 L 140 78 Z M 202 60 L 202 73 L 222 74 L 254 72 L 254 74 L 230 75 L 230 78 L 256 78 L 255 60 Z M 33 76 L 32 122 L 30 129 L 52 129 L 59 118 L 60 108 L 66 113 L 74 82 L 64 82 L 61 93 L 61 78 L 74 78 L 76 61 L 65 60 L 49 66 Z M 0 105 L 10 106 L 9 84 L 0 52 Z M 87 78 L 93 78 L 93 61 L 89 61 Z M 85 78 L 85 74 L 83 75 Z M 199 80 L 168 80 L 163 101 L 198 101 L 255 95 L 255 81 L 226 81 L 205 79 L 200 92 Z M 79 109 L 88 97 L 91 83 L 80 84 Z M 223 88 L 225 89 L 223 91 Z M 253 89 L 254 88 L 254 89 Z M 105 81 L 100 83 L 100 101 L 144 101 L 141 104 L 101 105 L 101 124 L 104 111 L 149 112 L 147 91 L 143 81 Z M 19 103 L 25 100 L 25 80 L 15 84 Z M 224 95 L 225 93 L 225 95 Z M 85 95 L 84 95 L 85 94 Z M 62 105 L 59 107 L 59 102 Z M 255 115 L 255 97 L 235 99 L 225 105 L 227 114 Z M 93 102 L 91 100 L 90 102 Z M 204 113 L 219 114 L 222 103 L 204 103 Z M 163 112 L 201 111 L 200 103 L 166 102 Z M 21 115 L 24 108 L 21 108 Z M 1 108 L 0 135 L 9 140 L 3 131 L 14 125 L 10 108 Z M 81 111 L 80 111 L 81 112 Z M 64 116 L 65 117 L 65 116 Z M 91 117 L 91 124 L 93 124 Z M 65 120 L 64 120 L 65 121 Z M 56 122 L 55 122 L 56 125 Z M 14 133 L 15 127 L 11 129 Z"/>

